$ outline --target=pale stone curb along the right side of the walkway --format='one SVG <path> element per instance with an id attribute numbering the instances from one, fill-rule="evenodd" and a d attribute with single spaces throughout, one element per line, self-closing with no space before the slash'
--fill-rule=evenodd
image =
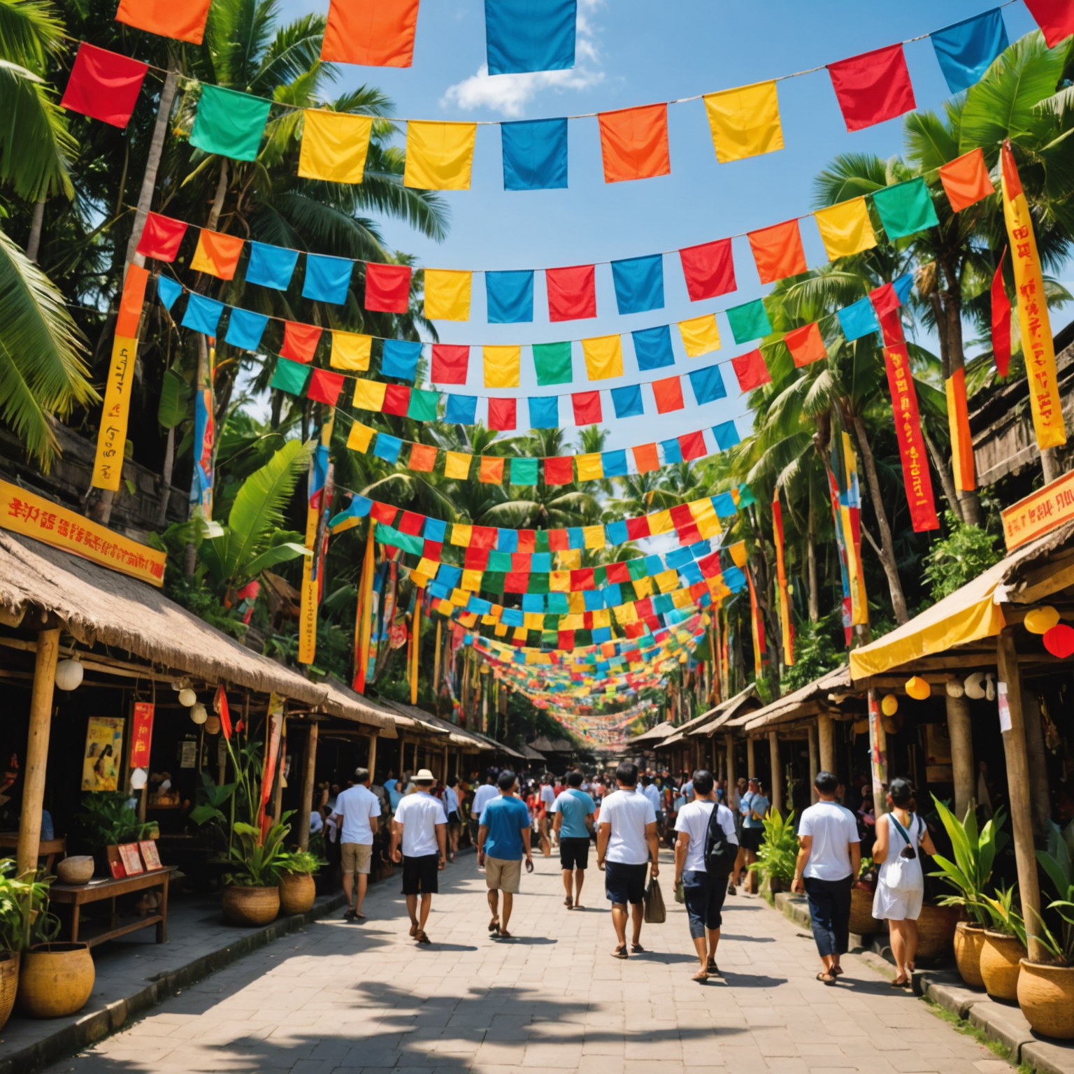
<path id="1" fill-rule="evenodd" d="M 775 896 L 775 909 L 799 928 L 810 928 L 809 905 L 802 896 L 781 891 Z M 881 973 L 876 957 L 892 961 L 886 935 L 871 943 L 852 935 L 851 953 L 871 956 L 866 961 Z M 915 996 L 931 1000 L 981 1030 L 988 1040 L 1003 1045 L 1014 1065 L 1026 1063 L 1039 1074 L 1074 1074 L 1074 1042 L 1063 1044 L 1036 1036 L 1017 1004 L 1002 1003 L 979 989 L 968 988 L 956 971 L 915 970 L 913 990 Z"/>

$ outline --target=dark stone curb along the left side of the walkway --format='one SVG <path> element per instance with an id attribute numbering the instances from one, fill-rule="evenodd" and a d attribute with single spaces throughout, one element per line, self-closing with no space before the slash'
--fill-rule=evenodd
<path id="1" fill-rule="evenodd" d="M 237 961 L 246 955 L 265 947 L 290 932 L 297 932 L 306 925 L 331 914 L 346 902 L 342 891 L 322 896 L 305 914 L 279 917 L 263 929 L 240 934 L 226 947 L 180 966 L 177 970 L 161 973 L 150 978 L 150 983 L 137 991 L 113 1000 L 97 1011 L 90 1011 L 77 1021 L 57 1029 L 54 1033 L 34 1041 L 33 1044 L 0 1059 L 0 1074 L 32 1074 L 66 1056 L 74 1055 L 90 1044 L 96 1044 L 112 1033 L 122 1029 L 128 1021 L 188 985 L 207 977 L 217 970 Z"/>

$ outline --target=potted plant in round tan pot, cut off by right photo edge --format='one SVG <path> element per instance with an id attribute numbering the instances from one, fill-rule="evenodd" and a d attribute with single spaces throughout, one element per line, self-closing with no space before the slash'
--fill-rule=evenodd
<path id="1" fill-rule="evenodd" d="M 1074 1037 L 1074 822 L 1060 831 L 1049 823 L 1048 847 L 1036 852 L 1036 860 L 1047 874 L 1058 899 L 1050 902 L 1060 920 L 1058 938 L 1047 925 L 1034 921 L 1033 939 L 1039 940 L 1051 962 L 1022 959 L 1018 976 L 1018 1006 L 1027 1021 L 1043 1036 Z"/>

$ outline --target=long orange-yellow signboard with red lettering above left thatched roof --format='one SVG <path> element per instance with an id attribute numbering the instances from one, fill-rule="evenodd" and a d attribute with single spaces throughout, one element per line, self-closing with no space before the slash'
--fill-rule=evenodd
<path id="1" fill-rule="evenodd" d="M 73 552 L 150 585 L 164 584 L 164 552 L 140 545 L 83 514 L 0 481 L 0 527 Z"/>

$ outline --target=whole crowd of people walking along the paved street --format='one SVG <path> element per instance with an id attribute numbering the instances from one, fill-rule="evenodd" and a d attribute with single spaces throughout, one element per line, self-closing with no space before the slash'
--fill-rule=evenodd
<path id="1" fill-rule="evenodd" d="M 915 812 L 913 787 L 894 780 L 887 789 L 890 811 L 871 825 L 843 806 L 844 788 L 831 772 L 814 783 L 817 802 L 803 811 L 793 888 L 809 900 L 813 935 L 821 958 L 817 979 L 833 985 L 842 975 L 841 956 L 850 940 L 851 891 L 858 881 L 862 829 L 879 869 L 873 916 L 887 919 L 897 966 L 896 987 L 913 973 L 916 919 L 924 895 L 920 854 L 934 854 L 927 826 Z M 591 853 L 604 874 L 615 934 L 612 957 L 644 952 L 644 903 L 661 873 L 664 843 L 674 851 L 676 898 L 686 909 L 698 957 L 694 979 L 719 974 L 716 952 L 724 902 L 737 894 L 744 872 L 756 861 L 764 822 L 771 808 L 760 781 L 735 786 L 698 769 L 676 780 L 667 772 L 640 772 L 624 761 L 612 773 L 580 770 L 562 778 L 490 770 L 484 782 L 449 778 L 438 783 L 427 769 L 373 785 L 359 768 L 346 790 L 329 788 L 310 817 L 311 830 L 326 832 L 338 846 L 348 908 L 345 918 L 364 917 L 362 905 L 375 859 L 388 869 L 402 866 L 403 895 L 410 935 L 430 943 L 425 927 L 439 873 L 473 843 L 484 873 L 494 939 L 512 937 L 510 920 L 522 872 L 532 872 L 535 845 L 546 856 L 558 850 L 564 905 L 584 910 L 582 891 Z"/>

